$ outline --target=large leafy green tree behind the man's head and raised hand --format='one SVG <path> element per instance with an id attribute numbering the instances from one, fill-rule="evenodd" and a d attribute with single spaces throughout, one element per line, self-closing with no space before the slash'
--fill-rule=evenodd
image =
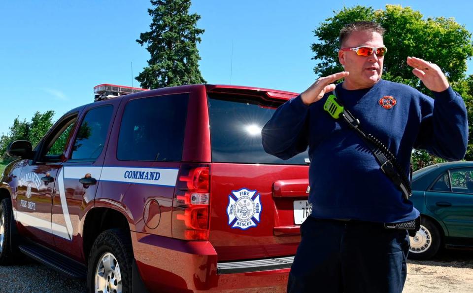
<path id="1" fill-rule="evenodd" d="M 318 41 L 311 45 L 315 53 L 312 59 L 319 61 L 314 67 L 315 74 L 326 76 L 343 71 L 338 63 L 339 31 L 348 23 L 362 20 L 375 21 L 386 29 L 384 44 L 388 52 L 384 59 L 383 79 L 408 84 L 432 96 L 412 73 L 406 58 L 415 56 L 432 61 L 439 65 L 453 89 L 462 94 L 467 109 L 472 109 L 468 106 L 473 106 L 473 80 L 471 76 L 465 76 L 467 59 L 473 56 L 471 33 L 453 18 L 423 18 L 419 11 L 410 7 L 388 4 L 385 10 L 373 10 L 372 7 L 358 5 L 334 11 L 334 16 L 314 30 Z M 473 122 L 472 114 L 469 110 L 470 123 Z M 466 158 L 473 159 L 472 145 L 468 147 Z M 413 154 L 415 168 L 441 161 L 425 151 Z"/>

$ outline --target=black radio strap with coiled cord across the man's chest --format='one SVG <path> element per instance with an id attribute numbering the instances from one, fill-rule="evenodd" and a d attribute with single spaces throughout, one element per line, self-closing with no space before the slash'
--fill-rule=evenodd
<path id="1" fill-rule="evenodd" d="M 335 97 L 337 94 L 333 91 Z M 337 99 L 338 100 L 338 99 Z M 337 101 L 340 104 L 339 101 Z M 340 106 L 342 106 L 340 104 Z M 343 111 L 340 113 L 343 120 L 350 126 L 351 129 L 355 130 L 358 136 L 363 139 L 367 147 L 371 150 L 372 154 L 376 158 L 376 161 L 381 166 L 381 170 L 384 174 L 396 185 L 396 187 L 403 193 L 405 199 L 409 199 L 412 194 L 410 189 L 410 182 L 405 176 L 405 172 L 401 168 L 401 165 L 396 160 L 396 157 L 385 147 L 377 138 L 371 134 L 366 135 L 360 127 L 360 120 L 356 119 L 346 108 L 343 107 Z"/>

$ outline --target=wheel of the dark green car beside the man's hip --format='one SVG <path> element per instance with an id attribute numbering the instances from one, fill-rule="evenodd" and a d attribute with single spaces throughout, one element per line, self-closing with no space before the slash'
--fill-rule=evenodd
<path id="1" fill-rule="evenodd" d="M 431 258 L 439 251 L 440 238 L 436 225 L 431 220 L 421 218 L 419 231 L 414 237 L 410 237 L 409 258 Z"/>

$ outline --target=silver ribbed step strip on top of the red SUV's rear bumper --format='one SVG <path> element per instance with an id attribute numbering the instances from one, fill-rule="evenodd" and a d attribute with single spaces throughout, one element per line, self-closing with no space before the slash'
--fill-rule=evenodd
<path id="1" fill-rule="evenodd" d="M 217 263 L 217 274 L 236 274 L 290 268 L 294 256 Z"/>

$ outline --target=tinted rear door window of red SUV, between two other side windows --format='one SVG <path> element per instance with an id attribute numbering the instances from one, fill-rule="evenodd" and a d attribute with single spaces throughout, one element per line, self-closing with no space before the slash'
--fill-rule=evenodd
<path id="1" fill-rule="evenodd" d="M 96 159 L 107 137 L 113 106 L 91 109 L 80 124 L 72 147 L 71 159 Z"/>

